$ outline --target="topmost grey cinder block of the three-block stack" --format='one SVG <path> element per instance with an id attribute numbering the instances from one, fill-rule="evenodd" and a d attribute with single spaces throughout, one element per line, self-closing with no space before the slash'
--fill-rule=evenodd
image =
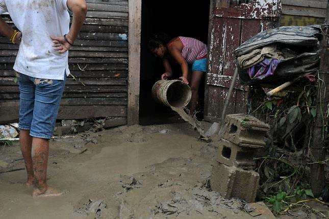
<path id="1" fill-rule="evenodd" d="M 265 146 L 264 137 L 270 126 L 254 116 L 229 114 L 225 117 L 225 126 L 221 138 L 242 147 L 260 148 Z"/>

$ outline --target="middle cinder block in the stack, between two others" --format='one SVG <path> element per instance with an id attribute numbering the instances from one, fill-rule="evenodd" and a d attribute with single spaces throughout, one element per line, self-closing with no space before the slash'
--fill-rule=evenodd
<path id="1" fill-rule="evenodd" d="M 227 166 L 239 167 L 242 169 L 253 169 L 256 165 L 254 153 L 256 149 L 241 147 L 231 141 L 220 139 L 216 161 Z"/>

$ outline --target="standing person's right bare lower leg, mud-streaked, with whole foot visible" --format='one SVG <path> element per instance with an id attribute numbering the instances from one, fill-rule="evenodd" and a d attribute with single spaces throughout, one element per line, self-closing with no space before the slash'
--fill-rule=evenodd
<path id="1" fill-rule="evenodd" d="M 33 137 L 32 161 L 34 170 L 33 197 L 60 196 L 63 192 L 47 185 L 49 140 Z"/>

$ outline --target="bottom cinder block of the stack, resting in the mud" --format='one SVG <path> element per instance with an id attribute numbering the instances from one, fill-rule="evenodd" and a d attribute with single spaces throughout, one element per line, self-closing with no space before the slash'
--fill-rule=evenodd
<path id="1" fill-rule="evenodd" d="M 240 198 L 250 203 L 255 202 L 259 178 L 255 171 L 245 171 L 215 161 L 210 186 L 225 199 Z"/>

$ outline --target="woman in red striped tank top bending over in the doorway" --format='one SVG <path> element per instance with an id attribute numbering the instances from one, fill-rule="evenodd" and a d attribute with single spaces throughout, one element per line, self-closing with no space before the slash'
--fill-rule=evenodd
<path id="1" fill-rule="evenodd" d="M 165 72 L 161 79 L 172 77 L 170 61 L 178 63 L 182 68 L 183 76 L 180 77 L 183 84 L 191 87 L 190 114 L 193 115 L 199 98 L 199 86 L 207 68 L 207 45 L 190 37 L 175 37 L 167 40 L 166 36 L 156 35 L 149 39 L 150 52 L 161 59 Z"/>

